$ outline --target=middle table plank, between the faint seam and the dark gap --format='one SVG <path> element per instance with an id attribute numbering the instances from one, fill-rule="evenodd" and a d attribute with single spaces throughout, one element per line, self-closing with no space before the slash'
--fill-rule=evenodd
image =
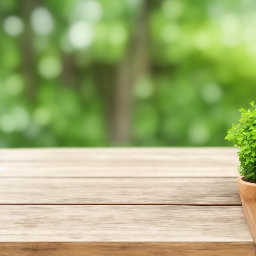
<path id="1" fill-rule="evenodd" d="M 236 178 L 1 178 L 1 204 L 241 204 Z"/>

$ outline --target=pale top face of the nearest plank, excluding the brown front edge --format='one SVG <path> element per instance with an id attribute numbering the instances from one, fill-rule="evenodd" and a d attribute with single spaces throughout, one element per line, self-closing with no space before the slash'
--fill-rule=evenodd
<path id="1" fill-rule="evenodd" d="M 241 206 L 1 205 L 2 242 L 253 240 Z"/>

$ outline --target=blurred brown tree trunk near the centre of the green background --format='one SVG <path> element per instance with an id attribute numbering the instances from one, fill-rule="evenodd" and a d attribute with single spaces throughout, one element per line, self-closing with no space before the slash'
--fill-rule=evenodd
<path id="1" fill-rule="evenodd" d="M 117 146 L 130 144 L 132 89 L 150 69 L 148 14 L 149 1 L 144 0 L 126 56 L 117 67 L 111 129 L 112 144 Z"/>

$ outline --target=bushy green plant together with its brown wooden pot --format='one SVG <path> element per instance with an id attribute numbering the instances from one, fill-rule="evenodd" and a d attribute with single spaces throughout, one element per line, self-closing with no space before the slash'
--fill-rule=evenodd
<path id="1" fill-rule="evenodd" d="M 240 166 L 237 178 L 238 191 L 245 218 L 256 242 L 256 106 L 254 101 L 249 110 L 240 108 L 241 119 L 228 130 L 225 139 L 233 141 L 239 149 Z"/>

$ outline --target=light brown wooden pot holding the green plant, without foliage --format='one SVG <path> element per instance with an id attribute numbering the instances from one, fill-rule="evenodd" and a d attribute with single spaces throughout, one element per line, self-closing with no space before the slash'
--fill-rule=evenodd
<path id="1" fill-rule="evenodd" d="M 256 183 L 250 183 L 242 180 L 244 176 L 236 179 L 238 191 L 242 202 L 249 229 L 254 243 L 256 243 Z"/>

